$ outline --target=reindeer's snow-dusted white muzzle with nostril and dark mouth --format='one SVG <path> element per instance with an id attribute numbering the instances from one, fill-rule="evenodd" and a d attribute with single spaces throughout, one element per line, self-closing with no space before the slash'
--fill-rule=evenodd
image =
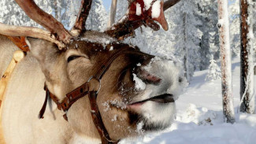
<path id="1" fill-rule="evenodd" d="M 174 61 L 154 57 L 147 65 L 138 64 L 133 73 L 137 95 L 128 101 L 131 123 L 138 131 L 169 127 L 176 116 L 175 101 L 184 87 L 183 68 Z"/>

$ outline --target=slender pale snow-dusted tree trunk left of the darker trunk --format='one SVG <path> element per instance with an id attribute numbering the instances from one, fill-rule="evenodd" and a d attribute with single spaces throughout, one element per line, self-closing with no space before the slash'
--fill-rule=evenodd
<path id="1" fill-rule="evenodd" d="M 221 87 L 224 121 L 235 122 L 232 95 L 231 50 L 229 43 L 228 0 L 218 0 L 218 17 L 221 49 Z"/>

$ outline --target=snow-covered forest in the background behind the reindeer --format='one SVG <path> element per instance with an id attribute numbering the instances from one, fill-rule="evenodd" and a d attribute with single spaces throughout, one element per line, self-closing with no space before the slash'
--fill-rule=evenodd
<path id="1" fill-rule="evenodd" d="M 98 31 L 106 29 L 111 1 L 103 1 L 93 1 L 90 16 L 87 19 L 88 29 Z M 254 1 L 252 0 L 252 3 L 255 6 L 256 2 Z M 60 20 L 67 29 L 72 28 L 80 7 L 80 0 L 35 0 L 35 2 L 46 13 L 50 13 Z M 121 19 L 127 8 L 127 0 L 117 1 L 116 21 Z M 239 0 L 229 1 L 228 9 L 232 57 L 236 57 L 240 53 Z M 254 16 L 256 17 L 256 14 Z M 184 65 L 188 81 L 191 80 L 195 71 L 209 68 L 210 61 L 219 61 L 217 0 L 182 0 L 176 6 L 168 9 L 165 12 L 165 17 L 169 23 L 169 31 L 138 28 L 135 37 L 125 41 L 139 46 L 148 54 L 180 61 Z M 0 22 L 41 28 L 39 24 L 25 15 L 14 0 L 0 2 Z M 256 22 L 253 21 L 253 23 L 255 35 Z"/>

